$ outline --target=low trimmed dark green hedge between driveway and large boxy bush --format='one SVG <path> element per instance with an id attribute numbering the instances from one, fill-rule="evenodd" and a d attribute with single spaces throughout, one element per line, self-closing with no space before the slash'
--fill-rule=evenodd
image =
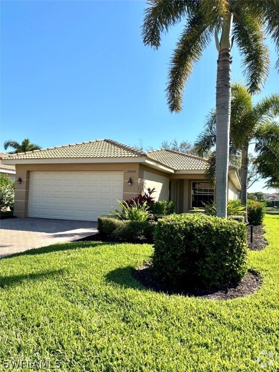
<path id="1" fill-rule="evenodd" d="M 136 242 L 153 239 L 156 222 L 121 220 L 114 216 L 99 216 L 98 231 L 112 241 Z"/>

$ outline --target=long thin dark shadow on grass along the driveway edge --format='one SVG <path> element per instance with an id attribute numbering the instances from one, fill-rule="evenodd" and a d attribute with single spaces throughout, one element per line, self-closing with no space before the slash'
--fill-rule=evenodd
<path id="1" fill-rule="evenodd" d="M 59 252 L 62 250 L 76 250 L 80 248 L 94 248 L 99 246 L 107 246 L 109 244 L 115 243 L 103 243 L 103 242 L 68 242 L 68 243 L 58 243 L 51 246 L 42 247 L 42 248 L 33 248 L 25 250 L 24 252 L 14 253 L 9 256 L 4 256 L 1 259 L 9 259 L 17 256 L 32 256 L 36 254 L 52 253 Z"/>

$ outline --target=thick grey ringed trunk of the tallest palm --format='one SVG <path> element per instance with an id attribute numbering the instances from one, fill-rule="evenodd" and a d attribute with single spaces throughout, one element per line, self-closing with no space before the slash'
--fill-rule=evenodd
<path id="1" fill-rule="evenodd" d="M 227 218 L 229 134 L 231 118 L 231 30 L 233 15 L 223 21 L 216 85 L 216 204 L 217 216 Z"/>

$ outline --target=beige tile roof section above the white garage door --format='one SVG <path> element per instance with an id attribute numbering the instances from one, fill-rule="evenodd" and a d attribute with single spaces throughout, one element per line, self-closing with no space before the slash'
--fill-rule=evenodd
<path id="1" fill-rule="evenodd" d="M 6 154 L 5 154 L 6 155 Z M 146 154 L 134 147 L 125 146 L 112 140 L 95 140 L 70 144 L 48 149 L 28 151 L 26 153 L 11 154 L 8 160 L 17 159 L 67 159 L 67 158 L 115 158 L 140 157 Z"/>

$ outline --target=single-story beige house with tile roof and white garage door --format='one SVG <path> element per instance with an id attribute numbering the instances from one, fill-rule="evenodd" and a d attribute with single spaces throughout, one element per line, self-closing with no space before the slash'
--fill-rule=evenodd
<path id="1" fill-rule="evenodd" d="M 112 140 L 9 155 L 3 163 L 16 164 L 16 179 L 22 179 L 16 183 L 17 217 L 96 221 L 118 206 L 116 199 L 130 199 L 148 187 L 155 187 L 156 200 L 175 201 L 177 213 L 215 198 L 204 177 L 207 160 L 165 149 L 144 153 Z M 233 167 L 228 184 L 229 199 L 239 198 Z"/>

